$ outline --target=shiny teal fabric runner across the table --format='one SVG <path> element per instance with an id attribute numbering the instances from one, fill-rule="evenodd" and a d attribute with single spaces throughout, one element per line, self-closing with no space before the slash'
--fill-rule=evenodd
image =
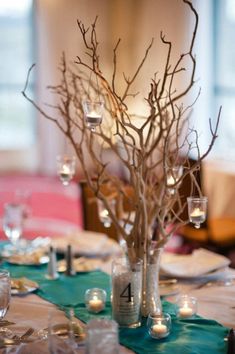
<path id="1" fill-rule="evenodd" d="M 74 308 L 76 316 L 85 323 L 97 317 L 111 318 L 110 302 L 100 314 L 88 313 L 84 304 L 84 294 L 88 288 L 105 289 L 110 298 L 110 276 L 106 273 L 95 271 L 73 277 L 62 274 L 57 280 L 48 280 L 45 277 L 46 266 L 14 266 L 5 262 L 2 267 L 7 268 L 12 277 L 25 276 L 37 281 L 40 285 L 37 295 L 64 311 Z M 177 319 L 174 305 L 168 302 L 163 302 L 163 309 L 172 316 L 172 331 L 167 338 L 152 339 L 143 324 L 136 329 L 120 329 L 120 343 L 139 354 L 226 354 L 227 342 L 224 337 L 228 334 L 228 328 L 199 316 L 194 319 Z"/>

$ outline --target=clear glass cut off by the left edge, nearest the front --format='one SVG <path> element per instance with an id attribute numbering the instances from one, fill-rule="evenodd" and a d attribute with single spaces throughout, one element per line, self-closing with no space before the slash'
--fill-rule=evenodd
<path id="1" fill-rule="evenodd" d="M 7 313 L 11 299 L 10 274 L 5 269 L 0 269 L 0 334 L 10 335 L 11 331 L 4 327 L 1 322 Z"/>

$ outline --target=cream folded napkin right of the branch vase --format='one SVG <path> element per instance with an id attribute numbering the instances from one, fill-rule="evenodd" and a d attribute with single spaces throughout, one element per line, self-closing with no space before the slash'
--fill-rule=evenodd
<path id="1" fill-rule="evenodd" d="M 190 255 L 164 252 L 161 260 L 161 271 L 175 277 L 193 278 L 227 267 L 229 264 L 230 260 L 228 258 L 200 248 Z"/>

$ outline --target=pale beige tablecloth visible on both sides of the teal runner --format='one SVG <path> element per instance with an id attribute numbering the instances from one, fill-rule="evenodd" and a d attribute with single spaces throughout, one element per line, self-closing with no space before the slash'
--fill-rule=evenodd
<path id="1" fill-rule="evenodd" d="M 111 273 L 111 263 L 116 255 L 110 255 L 108 257 L 102 258 L 99 264 L 99 270 L 105 274 Z M 2 263 L 4 266 L 5 263 Z M 20 274 L 21 266 L 16 266 L 17 274 Z M 42 271 L 47 275 L 47 266 L 42 267 Z M 77 277 L 77 278 L 76 278 Z M 73 277 L 74 281 L 77 279 L 79 281 L 79 275 Z M 235 279 L 235 270 L 228 268 L 226 270 L 226 277 L 230 280 Z M 51 284 L 56 280 L 51 280 Z M 229 284 L 226 282 L 219 281 L 205 281 L 205 279 L 198 280 L 195 279 L 177 279 L 178 291 L 174 294 L 166 294 L 163 299 L 170 303 L 175 303 L 177 301 L 179 294 L 188 294 L 197 298 L 198 301 L 198 315 L 202 318 L 215 320 L 219 324 L 227 328 L 226 333 L 230 328 L 235 328 L 235 281 L 231 281 Z M 72 291 L 72 289 L 71 289 Z M 48 314 L 54 309 L 57 311 L 62 318 L 65 317 L 63 311 L 61 311 L 52 301 L 40 296 L 37 291 L 34 293 L 29 293 L 21 296 L 12 296 L 9 310 L 5 316 L 5 320 L 13 322 L 14 324 L 9 326 L 11 330 L 17 334 L 24 333 L 28 328 L 32 327 L 34 329 L 33 338 L 35 341 L 39 340 L 39 333 L 42 329 L 48 327 Z M 84 321 L 79 320 L 81 326 L 86 328 Z M 226 340 L 226 338 L 225 338 Z M 29 344 L 28 344 L 29 345 Z M 226 345 L 225 345 L 226 347 Z M 120 345 L 120 353 L 133 353 L 134 351 L 128 349 L 125 346 Z M 2 348 L 0 353 L 18 353 L 14 352 L 13 348 Z M 24 353 L 23 351 L 20 353 Z M 28 353 L 28 351 L 25 351 Z M 38 351 L 38 353 L 43 353 Z M 45 352 L 46 353 L 46 352 Z M 77 348 L 77 353 L 85 353 L 85 346 L 80 345 Z M 151 352 L 152 353 L 152 352 Z M 157 353 L 157 352 L 156 352 Z M 183 353 L 183 352 L 182 352 Z M 185 353 L 191 353 L 190 351 L 185 351 Z M 198 352 L 197 353 L 201 353 Z M 224 351 L 226 353 L 226 351 Z M 32 354 L 37 354 L 37 351 L 32 352 Z"/>

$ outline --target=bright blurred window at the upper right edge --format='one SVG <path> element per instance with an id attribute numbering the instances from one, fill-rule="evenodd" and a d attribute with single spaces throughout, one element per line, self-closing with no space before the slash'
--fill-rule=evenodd
<path id="1" fill-rule="evenodd" d="M 216 106 L 222 105 L 217 153 L 235 159 L 235 1 L 215 0 L 215 72 Z"/>

